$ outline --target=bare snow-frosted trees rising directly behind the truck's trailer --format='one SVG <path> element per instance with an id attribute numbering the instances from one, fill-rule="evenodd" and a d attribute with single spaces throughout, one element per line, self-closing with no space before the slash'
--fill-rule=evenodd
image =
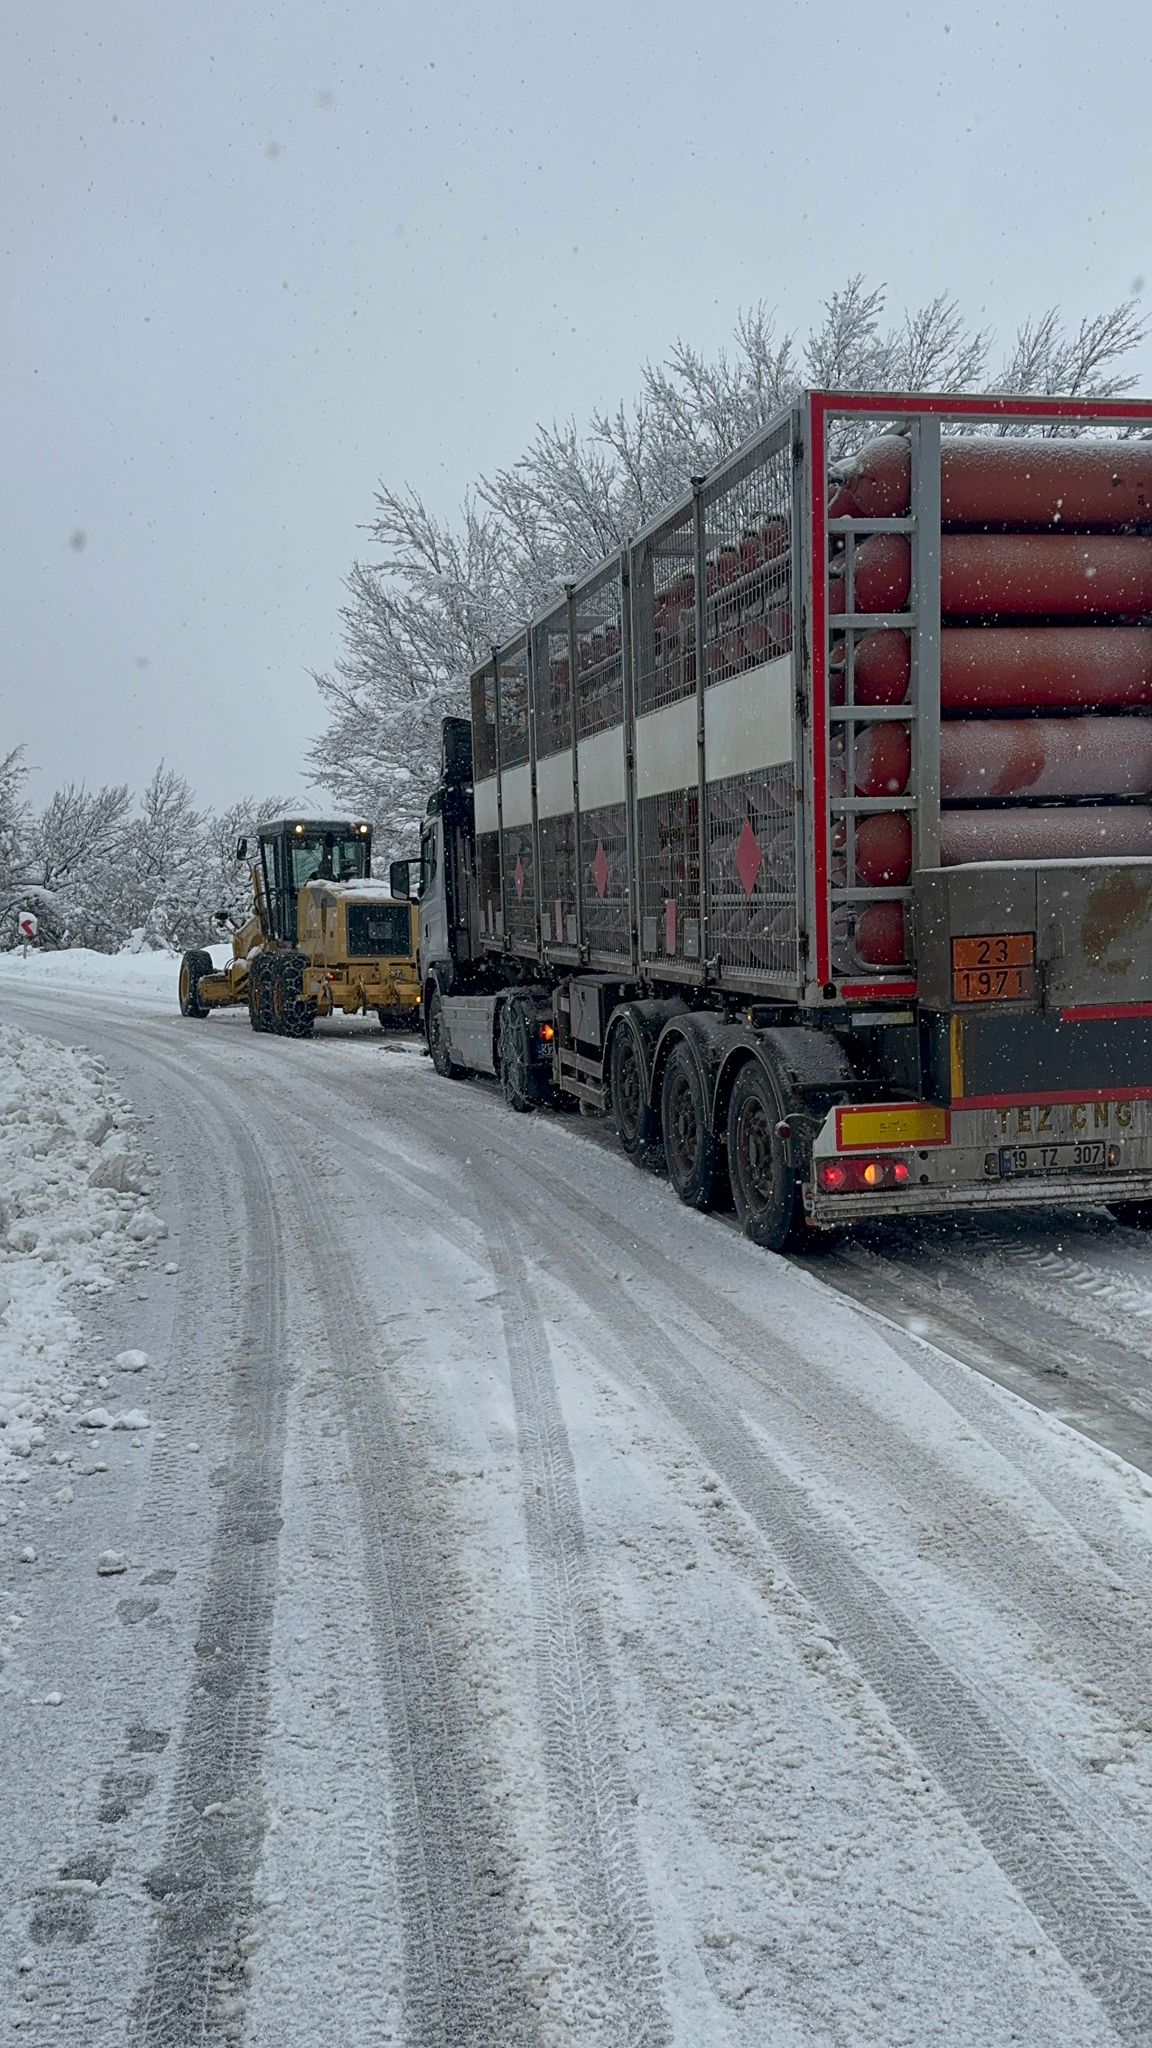
<path id="1" fill-rule="evenodd" d="M 886 291 L 855 276 L 804 340 L 758 305 L 715 358 L 676 342 L 644 367 L 631 403 L 586 428 L 541 426 L 510 469 L 478 481 L 455 522 L 416 492 L 381 485 L 373 559 L 346 580 L 340 659 L 314 678 L 328 717 L 314 772 L 392 844 L 412 842 L 441 719 L 467 709 L 469 668 L 806 385 L 1111 397 L 1132 387 L 1123 362 L 1144 332 L 1132 301 L 1074 328 L 1047 311 L 996 360 L 990 332 L 953 299 L 890 319 Z"/>

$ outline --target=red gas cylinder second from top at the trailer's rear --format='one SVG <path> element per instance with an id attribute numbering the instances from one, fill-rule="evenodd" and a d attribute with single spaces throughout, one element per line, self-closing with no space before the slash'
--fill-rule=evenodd
<path id="1" fill-rule="evenodd" d="M 910 582 L 912 557 L 902 535 L 879 532 L 857 549 L 857 612 L 904 610 Z M 828 578 L 828 608 L 845 610 L 840 563 Z M 1103 532 L 947 532 L 941 610 L 961 618 L 1140 618 L 1152 612 L 1152 541 Z"/>

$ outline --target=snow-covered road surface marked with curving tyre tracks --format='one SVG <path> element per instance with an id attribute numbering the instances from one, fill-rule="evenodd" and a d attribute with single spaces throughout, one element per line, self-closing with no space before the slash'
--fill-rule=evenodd
<path id="1" fill-rule="evenodd" d="M 1152 2040 L 1140 1470 L 412 1042 L 80 989 L 0 1020 L 170 1237 L 88 1307 L 152 1432 L 0 1528 L 0 2040 Z M 1144 1247 L 1058 1245 L 1138 1415 Z"/>

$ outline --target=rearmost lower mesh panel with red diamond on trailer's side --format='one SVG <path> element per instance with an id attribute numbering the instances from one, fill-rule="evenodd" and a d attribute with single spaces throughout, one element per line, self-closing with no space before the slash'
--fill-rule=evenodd
<path id="1" fill-rule="evenodd" d="M 795 981 L 795 770 L 707 786 L 709 942 L 722 975 Z"/>

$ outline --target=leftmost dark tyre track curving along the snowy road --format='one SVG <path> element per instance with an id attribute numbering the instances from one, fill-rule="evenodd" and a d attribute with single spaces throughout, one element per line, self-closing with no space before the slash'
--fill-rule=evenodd
<path id="1" fill-rule="evenodd" d="M 41 1012 L 35 1024 L 43 1028 L 45 1018 L 51 1020 L 55 1012 L 74 1036 L 72 1006 L 43 1001 L 35 1010 Z M 115 1837 L 109 1862 L 123 1864 L 115 1886 L 121 1921 L 127 1909 L 121 1950 L 109 1956 L 102 1952 L 105 1942 L 102 1950 L 88 1952 L 82 1968 L 74 1962 L 66 2005 L 68 2023 L 80 2030 L 76 2038 L 82 2034 L 109 2044 L 113 2038 L 131 2040 L 135 2048 L 193 2048 L 234 2042 L 242 2030 L 242 1942 L 252 1921 L 252 1878 L 262 1837 L 260 1763 L 283 1460 L 283 1260 L 271 1184 L 236 1104 L 205 1085 L 203 1077 L 193 1079 L 187 1065 L 164 1057 L 148 1042 L 154 1036 L 148 1026 L 131 1028 L 123 1014 L 111 1022 L 96 1018 L 94 1034 L 102 1049 L 127 1051 L 156 1069 L 178 1114 L 184 1122 L 195 1122 L 201 1145 L 207 1122 L 215 1163 L 228 1157 L 228 1182 L 240 1190 L 246 1225 L 234 1233 L 238 1255 L 236 1262 L 230 1260 L 234 1298 L 238 1282 L 244 1276 L 248 1280 L 228 1368 L 234 1452 L 221 1470 L 191 1686 L 176 1714 L 170 1706 L 160 1710 L 164 1722 L 180 1722 L 164 1821 L 160 1831 L 148 1829 L 148 1837 L 160 1833 L 160 1864 L 141 1872 L 135 1862 L 143 1845 L 139 1827 L 123 1841 Z M 213 1147 L 209 1157 L 211 1151 Z M 189 1288 L 191 1276 L 184 1272 L 172 1323 L 174 1341 L 182 1329 L 191 1329 L 195 1346 L 211 1343 L 215 1327 L 230 1325 L 219 1319 L 209 1331 L 203 1300 L 195 1307 Z M 193 1350 L 193 1370 L 195 1358 Z M 174 1468 L 164 1448 L 162 1456 L 154 1456 L 150 1491 L 137 1518 L 137 1542 L 143 1548 L 164 1554 L 164 1505 L 172 1497 Z M 156 1755 L 168 1749 L 166 1726 L 150 1726 L 150 1716 L 158 1716 L 158 1702 L 150 1694 L 146 1649 L 143 1632 L 131 1630 L 133 1663 L 107 1690 L 105 1718 L 115 1722 L 117 1747 L 98 1778 L 100 1833 L 129 1815 L 139 1821 L 135 1808 L 152 1792 Z M 121 1712 L 115 1712 L 113 1700 L 123 1702 Z M 156 1847 L 152 1853 L 156 1855 Z M 92 1851 L 82 1851 L 76 1860 L 76 1868 L 88 1870 L 90 1864 Z M 141 1944 L 143 1958 L 135 1970 L 139 1989 L 135 1997 L 125 1989 L 119 2003 L 115 1976 L 125 1952 L 131 1958 L 133 1921 L 141 1903 L 154 1905 L 154 1929 Z M 100 1905 L 109 1911 L 113 1901 Z M 53 1987 L 47 1985 L 45 1991 L 45 2003 L 57 2003 Z"/>

